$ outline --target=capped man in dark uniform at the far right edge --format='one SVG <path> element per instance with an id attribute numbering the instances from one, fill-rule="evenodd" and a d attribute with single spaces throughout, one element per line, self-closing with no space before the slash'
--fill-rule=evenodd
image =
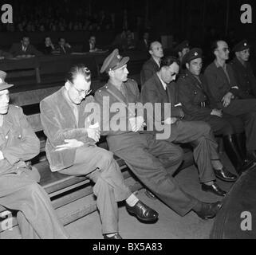
<path id="1" fill-rule="evenodd" d="M 249 62 L 250 45 L 246 40 L 240 41 L 234 45 L 233 51 L 235 57 L 230 65 L 241 90 L 239 96 L 243 99 L 256 98 L 256 78 Z"/>

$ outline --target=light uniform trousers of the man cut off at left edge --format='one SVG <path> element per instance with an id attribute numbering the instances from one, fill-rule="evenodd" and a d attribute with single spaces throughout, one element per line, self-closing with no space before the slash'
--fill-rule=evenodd
<path id="1" fill-rule="evenodd" d="M 9 194 L 0 198 L 0 204 L 10 210 L 22 212 L 23 215 L 18 214 L 18 223 L 22 224 L 20 225 L 22 237 L 40 237 L 41 239 L 68 238 L 69 235 L 57 218 L 57 214 L 53 210 L 45 190 L 36 182 L 31 181 L 18 188 L 18 181 L 22 183 L 22 179 L 6 178 L 6 183 L 16 182 L 14 183 L 16 190 L 10 190 Z M 29 230 L 29 233 L 24 230 Z"/>

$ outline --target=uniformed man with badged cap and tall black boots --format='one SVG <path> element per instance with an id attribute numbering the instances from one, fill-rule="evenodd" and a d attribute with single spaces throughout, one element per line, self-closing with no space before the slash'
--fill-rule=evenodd
<path id="1" fill-rule="evenodd" d="M 236 171 L 241 173 L 248 166 L 246 147 L 242 147 L 244 131 L 242 120 L 223 113 L 217 105 L 210 105 L 207 97 L 207 80 L 201 74 L 203 65 L 202 50 L 191 49 L 183 57 L 186 72 L 179 77 L 177 88 L 179 102 L 185 114 L 184 120 L 201 120 L 211 125 L 215 135 L 223 135 L 226 155 L 229 156 Z"/>

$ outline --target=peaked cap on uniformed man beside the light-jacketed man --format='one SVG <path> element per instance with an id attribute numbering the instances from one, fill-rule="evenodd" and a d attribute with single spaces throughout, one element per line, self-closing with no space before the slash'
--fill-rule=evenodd
<path id="1" fill-rule="evenodd" d="M 130 60 L 129 57 L 121 57 L 118 49 L 114 49 L 113 52 L 106 57 L 103 65 L 101 66 L 100 73 L 108 73 L 110 70 L 120 69 Z"/>

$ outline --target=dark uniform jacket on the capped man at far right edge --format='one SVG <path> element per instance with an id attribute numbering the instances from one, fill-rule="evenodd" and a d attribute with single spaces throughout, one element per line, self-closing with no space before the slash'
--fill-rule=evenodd
<path id="1" fill-rule="evenodd" d="M 244 99 L 256 97 L 256 79 L 250 63 L 247 62 L 246 66 L 242 65 L 238 58 L 234 57 L 230 65 L 234 70 L 234 77 L 242 91 L 240 97 Z"/>

